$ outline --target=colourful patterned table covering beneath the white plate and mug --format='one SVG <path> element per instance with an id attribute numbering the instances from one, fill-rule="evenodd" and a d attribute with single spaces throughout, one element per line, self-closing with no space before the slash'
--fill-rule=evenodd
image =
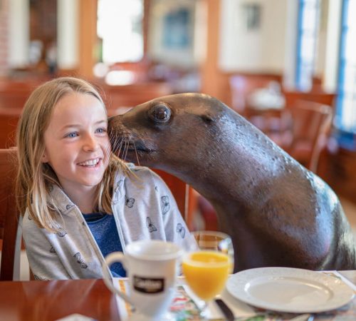
<path id="1" fill-rule="evenodd" d="M 338 277 L 347 285 L 352 287 L 356 293 L 356 271 L 324 271 L 333 277 Z M 127 278 L 115 278 L 114 284 L 120 288 L 122 292 L 128 292 Z M 229 295 L 225 290 L 221 295 L 235 315 L 235 320 L 239 321 L 284 321 L 290 320 L 297 315 L 292 313 L 276 313 L 273 311 L 266 311 L 247 305 L 244 302 L 237 300 Z M 174 298 L 174 302 L 171 306 L 171 314 L 174 315 L 176 321 L 198 321 L 199 320 L 199 300 L 194 297 L 194 294 L 189 291 L 189 288 L 184 284 L 184 278 L 179 278 L 177 285 L 177 295 Z M 120 311 L 120 317 L 122 320 L 130 319 L 132 312 L 130 311 L 130 305 L 127 305 L 125 301 L 117 297 L 117 306 Z M 224 320 L 224 316 L 221 315 L 221 311 L 214 302 L 209 305 L 209 320 Z M 356 296 L 347 305 L 340 307 L 337 310 L 328 312 L 322 312 L 315 315 L 315 321 L 355 321 L 356 320 Z"/>

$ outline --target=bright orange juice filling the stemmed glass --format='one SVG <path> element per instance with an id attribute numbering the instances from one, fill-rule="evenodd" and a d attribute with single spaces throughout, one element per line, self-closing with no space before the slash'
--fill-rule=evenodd
<path id="1" fill-rule="evenodd" d="M 189 253 L 182 263 L 187 284 L 206 301 L 224 289 L 230 268 L 229 255 L 209 250 Z"/>

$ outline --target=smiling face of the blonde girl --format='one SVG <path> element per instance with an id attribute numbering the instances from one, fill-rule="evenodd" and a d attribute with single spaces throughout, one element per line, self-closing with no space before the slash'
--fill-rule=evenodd
<path id="1" fill-rule="evenodd" d="M 107 130 L 104 107 L 90 94 L 70 93 L 54 106 L 42 161 L 68 195 L 92 190 L 102 180 L 110 157 Z"/>

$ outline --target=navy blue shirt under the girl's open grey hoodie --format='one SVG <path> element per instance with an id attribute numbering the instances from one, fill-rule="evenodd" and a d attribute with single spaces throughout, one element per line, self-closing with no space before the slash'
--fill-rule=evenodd
<path id="1" fill-rule="evenodd" d="M 114 215 L 102 213 L 83 214 L 85 221 L 88 223 L 91 233 L 93 234 L 96 243 L 103 253 L 106 255 L 112 252 L 122 252 L 122 245 L 115 224 Z M 110 266 L 110 271 L 114 277 L 125 277 L 126 271 L 121 263 L 114 263 Z"/>

